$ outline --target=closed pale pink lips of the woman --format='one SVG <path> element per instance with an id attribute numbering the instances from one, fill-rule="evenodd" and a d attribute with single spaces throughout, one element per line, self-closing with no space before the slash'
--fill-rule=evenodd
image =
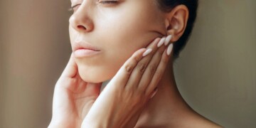
<path id="1" fill-rule="evenodd" d="M 92 55 L 97 55 L 101 53 L 101 50 L 95 46 L 92 46 L 90 43 L 80 41 L 73 44 L 73 53 L 75 58 L 85 58 Z"/>

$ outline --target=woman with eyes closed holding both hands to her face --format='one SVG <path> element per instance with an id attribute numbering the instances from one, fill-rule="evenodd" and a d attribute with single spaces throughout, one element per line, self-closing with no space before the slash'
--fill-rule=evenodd
<path id="1" fill-rule="evenodd" d="M 220 127 L 186 104 L 174 79 L 197 0 L 71 4 L 73 53 L 55 85 L 49 127 Z"/>

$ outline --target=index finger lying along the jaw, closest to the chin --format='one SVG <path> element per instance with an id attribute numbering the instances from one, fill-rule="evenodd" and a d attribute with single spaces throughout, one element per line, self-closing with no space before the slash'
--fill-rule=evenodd
<path id="1" fill-rule="evenodd" d="M 114 85 L 118 85 L 118 86 L 123 85 L 123 87 L 125 85 L 127 85 L 127 80 L 129 79 L 129 76 L 131 75 L 132 70 L 137 65 L 139 60 L 142 59 L 142 57 L 143 57 L 142 55 L 145 51 L 146 51 L 146 48 L 142 48 L 142 49 L 137 50 L 132 55 L 132 57 L 130 57 L 124 63 L 124 65 L 122 65 L 122 67 L 118 70 L 117 74 L 114 75 L 114 78 L 112 78 L 112 80 L 110 82 L 114 82 L 115 83 Z"/>

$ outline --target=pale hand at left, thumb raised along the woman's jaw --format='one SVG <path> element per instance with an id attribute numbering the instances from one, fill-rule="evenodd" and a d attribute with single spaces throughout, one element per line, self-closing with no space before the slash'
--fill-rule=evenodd
<path id="1" fill-rule="evenodd" d="M 48 127 L 81 127 L 82 120 L 100 95 L 102 83 L 84 82 L 78 73 L 73 55 L 58 82 L 53 95 L 53 116 Z"/>

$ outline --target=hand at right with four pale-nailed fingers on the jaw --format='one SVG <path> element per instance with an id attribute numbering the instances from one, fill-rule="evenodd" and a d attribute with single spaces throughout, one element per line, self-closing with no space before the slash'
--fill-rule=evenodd
<path id="1" fill-rule="evenodd" d="M 170 37 L 169 37 L 170 38 Z M 169 39 L 170 40 L 170 39 Z M 156 93 L 156 86 L 169 61 L 172 44 L 166 53 L 165 39 L 156 38 L 147 48 L 137 50 L 112 78 L 92 105 L 82 122 L 85 127 L 134 127 L 146 103 Z M 166 41 L 166 45 L 169 41 Z M 160 46 L 157 48 L 156 46 Z M 150 51 L 150 50 L 147 50 Z"/>

